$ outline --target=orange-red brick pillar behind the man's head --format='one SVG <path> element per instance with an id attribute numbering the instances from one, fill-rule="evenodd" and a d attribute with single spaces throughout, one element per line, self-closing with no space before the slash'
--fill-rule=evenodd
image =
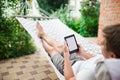
<path id="1" fill-rule="evenodd" d="M 120 0 L 100 0 L 100 3 L 98 44 L 101 40 L 101 29 L 104 26 L 120 23 Z"/>

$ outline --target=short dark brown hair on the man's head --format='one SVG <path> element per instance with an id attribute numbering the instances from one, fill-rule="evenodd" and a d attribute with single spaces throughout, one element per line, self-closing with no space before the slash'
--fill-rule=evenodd
<path id="1" fill-rule="evenodd" d="M 120 24 L 106 26 L 103 29 L 107 51 L 114 52 L 120 58 Z"/>

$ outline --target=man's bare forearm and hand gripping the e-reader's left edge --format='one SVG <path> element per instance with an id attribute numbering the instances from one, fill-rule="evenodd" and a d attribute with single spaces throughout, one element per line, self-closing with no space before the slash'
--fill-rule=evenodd
<path id="1" fill-rule="evenodd" d="M 69 59 L 69 51 L 67 45 L 64 47 L 64 76 L 66 80 L 70 80 L 70 78 L 75 77 Z"/>

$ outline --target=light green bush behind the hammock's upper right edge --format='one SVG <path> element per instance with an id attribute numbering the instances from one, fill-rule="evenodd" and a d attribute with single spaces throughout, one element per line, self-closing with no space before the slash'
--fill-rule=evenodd
<path id="1" fill-rule="evenodd" d="M 61 6 L 56 12 L 53 12 L 52 16 L 59 18 L 63 23 L 69 26 L 71 29 L 80 33 L 80 20 L 74 19 L 70 16 L 68 7 Z"/>

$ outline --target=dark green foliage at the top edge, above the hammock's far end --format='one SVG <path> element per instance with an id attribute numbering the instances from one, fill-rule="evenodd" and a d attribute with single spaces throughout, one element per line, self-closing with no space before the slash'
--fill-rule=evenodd
<path id="1" fill-rule="evenodd" d="M 56 11 L 61 5 L 65 6 L 65 4 L 68 4 L 68 1 L 69 0 L 37 0 L 39 7 L 49 13 Z"/>

